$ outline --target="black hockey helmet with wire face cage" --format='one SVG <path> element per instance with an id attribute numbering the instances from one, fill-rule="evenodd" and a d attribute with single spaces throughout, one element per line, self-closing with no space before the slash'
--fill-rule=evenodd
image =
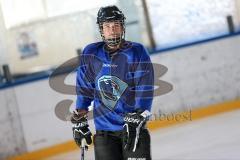
<path id="1" fill-rule="evenodd" d="M 125 16 L 117 6 L 106 6 L 101 7 L 97 14 L 97 24 L 99 26 L 100 34 L 103 41 L 110 47 L 119 45 L 125 38 Z M 111 39 L 106 39 L 103 35 L 103 23 L 104 22 L 116 22 L 120 23 L 122 26 L 122 33 L 119 37 L 114 37 Z"/>

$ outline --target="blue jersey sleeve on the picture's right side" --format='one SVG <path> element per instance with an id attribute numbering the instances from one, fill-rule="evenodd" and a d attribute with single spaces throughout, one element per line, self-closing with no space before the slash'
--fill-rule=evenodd
<path id="1" fill-rule="evenodd" d="M 135 71 L 136 100 L 135 109 L 151 111 L 154 93 L 154 69 L 151 59 L 142 46 L 140 50 L 141 58 Z"/>

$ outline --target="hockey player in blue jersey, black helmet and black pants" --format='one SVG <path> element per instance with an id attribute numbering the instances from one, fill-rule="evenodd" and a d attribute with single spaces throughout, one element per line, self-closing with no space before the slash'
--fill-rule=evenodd
<path id="1" fill-rule="evenodd" d="M 125 40 L 125 16 L 116 6 L 102 7 L 97 24 L 102 42 L 85 47 L 77 71 L 73 137 L 92 143 L 87 112 L 94 101 L 96 160 L 151 160 L 150 115 L 154 73 L 143 45 Z"/>

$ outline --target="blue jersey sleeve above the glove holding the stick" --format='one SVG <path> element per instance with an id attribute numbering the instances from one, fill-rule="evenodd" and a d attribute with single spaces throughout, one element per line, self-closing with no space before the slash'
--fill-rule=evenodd
<path id="1" fill-rule="evenodd" d="M 90 63 L 87 60 L 85 51 L 80 56 L 80 65 L 77 69 L 76 76 L 76 109 L 88 110 L 91 102 L 94 99 L 94 88 L 92 77 L 90 74 Z"/>

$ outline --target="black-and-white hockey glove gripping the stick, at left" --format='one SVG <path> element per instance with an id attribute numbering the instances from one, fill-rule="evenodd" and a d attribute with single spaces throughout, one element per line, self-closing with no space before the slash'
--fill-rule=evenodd
<path id="1" fill-rule="evenodd" d="M 83 139 L 86 140 L 87 144 L 92 144 L 92 133 L 89 130 L 87 115 L 81 115 L 76 112 L 73 112 L 71 117 L 71 122 L 73 123 L 72 131 L 73 131 L 73 138 L 76 144 L 81 147 L 81 142 Z"/>

